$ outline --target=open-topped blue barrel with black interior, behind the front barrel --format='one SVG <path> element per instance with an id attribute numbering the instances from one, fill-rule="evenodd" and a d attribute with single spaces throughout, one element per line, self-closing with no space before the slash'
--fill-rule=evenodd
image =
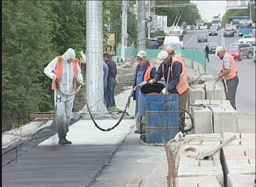
<path id="1" fill-rule="evenodd" d="M 139 91 L 139 103 L 138 103 L 138 110 L 139 110 L 139 124 L 141 116 L 146 115 L 146 94 L 150 93 L 158 93 L 164 89 L 164 85 L 160 83 L 151 84 L 144 84 L 140 91 Z"/>

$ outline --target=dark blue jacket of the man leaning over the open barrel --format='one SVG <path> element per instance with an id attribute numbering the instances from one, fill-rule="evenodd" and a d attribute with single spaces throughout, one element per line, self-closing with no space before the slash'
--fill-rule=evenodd
<path id="1" fill-rule="evenodd" d="M 172 57 L 170 57 L 168 64 L 161 63 L 154 77 L 156 82 L 163 77 L 162 66 L 164 66 L 164 79 L 166 83 L 168 69 L 169 67 L 171 67 L 171 62 L 172 62 Z M 178 94 L 178 91 L 176 90 L 176 86 L 179 84 L 181 72 L 182 72 L 181 63 L 179 61 L 174 61 L 173 68 L 170 69 L 170 78 L 169 78 L 169 84 L 168 84 L 168 90 L 167 90 L 168 92 L 170 92 L 170 94 Z M 172 78 L 172 74 L 173 74 L 173 78 Z"/>

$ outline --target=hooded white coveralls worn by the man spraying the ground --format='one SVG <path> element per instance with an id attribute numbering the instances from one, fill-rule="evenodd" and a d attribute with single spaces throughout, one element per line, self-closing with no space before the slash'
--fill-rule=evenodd
<path id="1" fill-rule="evenodd" d="M 67 62 L 67 59 L 75 59 L 76 53 L 72 48 L 69 48 L 63 55 L 63 69 L 62 77 L 59 83 L 60 89 L 64 94 L 72 94 L 74 92 L 74 66 L 73 61 L 71 63 Z M 58 59 L 57 57 L 53 59 L 44 69 L 45 75 L 53 79 L 57 69 Z M 82 80 L 83 76 L 81 74 L 80 66 L 77 64 L 77 75 L 76 80 Z M 71 119 L 73 96 L 64 96 L 58 91 L 54 91 L 54 105 L 55 105 L 55 122 L 57 125 L 58 136 L 63 138 L 67 136 L 69 130 L 68 126 Z"/>

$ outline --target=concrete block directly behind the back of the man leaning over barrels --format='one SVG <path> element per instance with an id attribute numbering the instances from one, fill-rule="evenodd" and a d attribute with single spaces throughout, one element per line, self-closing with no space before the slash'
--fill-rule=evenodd
<path id="1" fill-rule="evenodd" d="M 195 100 L 204 100 L 205 91 L 201 86 L 196 85 L 195 88 L 189 87 L 188 106 L 194 104 Z"/>

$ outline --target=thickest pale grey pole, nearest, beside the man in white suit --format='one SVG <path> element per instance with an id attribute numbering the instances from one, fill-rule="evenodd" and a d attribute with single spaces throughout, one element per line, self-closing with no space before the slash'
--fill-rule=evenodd
<path id="1" fill-rule="evenodd" d="M 103 96 L 102 26 L 102 0 L 86 0 L 86 99 L 95 113 L 107 110 Z"/>

